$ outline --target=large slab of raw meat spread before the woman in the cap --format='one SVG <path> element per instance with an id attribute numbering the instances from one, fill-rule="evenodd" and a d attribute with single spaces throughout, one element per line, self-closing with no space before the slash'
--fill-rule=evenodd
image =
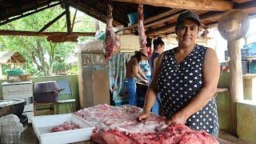
<path id="1" fill-rule="evenodd" d="M 166 126 L 166 118 L 151 114 L 146 122 L 136 118 L 142 109 L 136 106 L 98 105 L 75 114 L 86 119 L 96 128 L 91 139 L 98 143 L 181 143 L 217 144 L 218 141 L 205 131 L 191 130 L 185 125 Z"/>

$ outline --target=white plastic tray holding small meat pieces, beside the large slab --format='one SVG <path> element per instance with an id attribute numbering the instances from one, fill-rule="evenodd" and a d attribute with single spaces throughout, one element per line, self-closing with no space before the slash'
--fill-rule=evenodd
<path id="1" fill-rule="evenodd" d="M 81 142 L 90 139 L 90 135 L 94 126 L 86 122 L 82 118 L 78 118 L 75 114 L 57 114 L 44 115 L 31 118 L 32 126 L 35 134 L 41 144 L 57 144 Z M 61 125 L 63 122 L 76 124 L 80 127 L 77 130 L 66 130 L 59 132 L 51 132 L 54 126 Z"/>

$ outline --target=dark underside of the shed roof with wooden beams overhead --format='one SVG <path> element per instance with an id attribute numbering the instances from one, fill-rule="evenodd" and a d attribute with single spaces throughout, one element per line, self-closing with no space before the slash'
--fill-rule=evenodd
<path id="1" fill-rule="evenodd" d="M 122 2 L 117 2 L 122 1 Z M 136 2 L 139 2 L 137 0 Z M 174 7 L 163 7 L 158 6 L 161 2 L 170 2 L 173 1 Z M 137 12 L 136 3 L 130 3 L 135 1 L 130 0 L 112 0 L 113 5 L 113 17 L 114 17 L 114 26 L 123 25 L 126 26 L 126 29 L 137 31 L 138 24 L 135 23 L 132 26 L 128 26 L 129 19 L 127 14 Z M 256 16 L 256 1 L 255 0 L 211 0 L 211 1 L 202 1 L 202 0 L 159 0 L 159 1 L 143 1 L 148 2 L 151 5 L 144 5 L 145 11 L 145 30 L 146 35 L 148 36 L 158 36 L 158 35 L 168 35 L 174 34 L 174 26 L 177 21 L 178 14 L 185 12 L 186 10 L 192 10 L 194 13 L 198 14 L 202 21 L 202 27 L 207 28 L 218 23 L 218 19 L 222 16 L 226 10 L 233 7 L 233 9 L 244 10 L 251 17 Z M 151 3 L 150 3 L 151 2 Z M 219 2 L 223 2 L 223 5 L 216 5 Z M 152 3 L 156 5 L 153 6 Z M 227 5 L 228 3 L 229 8 Z M 0 25 L 9 22 L 12 18 L 17 18 L 25 16 L 26 14 L 34 14 L 39 10 L 50 8 L 51 6 L 62 5 L 64 8 L 67 6 L 72 6 L 75 9 L 78 9 L 85 14 L 90 15 L 102 22 L 106 22 L 106 10 L 107 10 L 107 1 L 106 0 L 5 0 L 0 1 Z M 215 9 L 213 9 L 215 8 Z M 232 8 L 231 8 L 232 9 Z M 39 28 L 38 30 L 40 30 Z"/>

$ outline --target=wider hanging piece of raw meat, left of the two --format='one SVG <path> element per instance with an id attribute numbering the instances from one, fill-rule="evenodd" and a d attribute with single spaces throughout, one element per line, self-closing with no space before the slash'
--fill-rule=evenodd
<path id="1" fill-rule="evenodd" d="M 114 33 L 113 30 L 113 16 L 112 16 L 113 7 L 109 4 L 108 5 L 108 15 L 107 15 L 107 22 L 106 22 L 106 38 L 104 43 L 105 55 L 104 57 L 106 60 L 109 60 L 111 55 L 114 54 L 115 51 L 119 50 L 120 42 L 119 37 Z"/>

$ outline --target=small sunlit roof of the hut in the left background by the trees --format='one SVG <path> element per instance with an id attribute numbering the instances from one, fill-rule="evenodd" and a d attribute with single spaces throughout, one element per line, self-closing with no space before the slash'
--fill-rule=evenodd
<path id="1" fill-rule="evenodd" d="M 26 59 L 18 51 L 0 51 L 0 64 L 21 64 L 24 62 Z"/>

